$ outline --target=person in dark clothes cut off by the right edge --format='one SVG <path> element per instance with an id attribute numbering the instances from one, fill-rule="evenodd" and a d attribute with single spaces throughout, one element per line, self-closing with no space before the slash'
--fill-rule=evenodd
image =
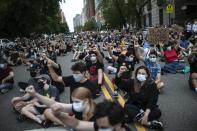
<path id="1" fill-rule="evenodd" d="M 192 54 L 188 58 L 190 64 L 190 87 L 197 93 L 197 47 L 192 49 Z"/>

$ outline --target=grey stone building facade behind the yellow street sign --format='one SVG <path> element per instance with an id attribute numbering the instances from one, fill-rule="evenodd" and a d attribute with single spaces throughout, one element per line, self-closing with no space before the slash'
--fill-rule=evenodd
<path id="1" fill-rule="evenodd" d="M 173 12 L 167 13 L 168 4 L 173 6 Z M 151 0 L 144 8 L 143 27 L 157 25 L 184 25 L 187 20 L 197 18 L 196 0 Z"/>

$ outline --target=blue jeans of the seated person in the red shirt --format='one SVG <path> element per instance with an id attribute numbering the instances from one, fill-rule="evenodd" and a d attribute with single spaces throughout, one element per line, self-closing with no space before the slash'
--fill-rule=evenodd
<path id="1" fill-rule="evenodd" d="M 176 74 L 177 71 L 183 70 L 185 68 L 185 65 L 178 63 L 177 61 L 174 61 L 172 63 L 167 63 L 164 66 L 164 71 L 172 74 Z"/>

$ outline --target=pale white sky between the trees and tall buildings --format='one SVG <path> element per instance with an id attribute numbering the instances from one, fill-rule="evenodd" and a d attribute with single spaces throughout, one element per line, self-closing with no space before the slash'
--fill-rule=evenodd
<path id="1" fill-rule="evenodd" d="M 61 9 L 65 14 L 70 32 L 74 31 L 73 18 L 76 14 L 81 14 L 82 8 L 83 0 L 66 0 L 65 3 L 61 3 Z"/>

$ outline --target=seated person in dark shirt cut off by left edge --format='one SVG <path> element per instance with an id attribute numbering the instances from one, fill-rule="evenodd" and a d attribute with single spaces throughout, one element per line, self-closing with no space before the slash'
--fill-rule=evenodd
<path id="1" fill-rule="evenodd" d="M 0 56 L 1 57 L 1 56 Z M 14 87 L 14 72 L 6 60 L 0 58 L 0 92 L 6 93 Z"/>

